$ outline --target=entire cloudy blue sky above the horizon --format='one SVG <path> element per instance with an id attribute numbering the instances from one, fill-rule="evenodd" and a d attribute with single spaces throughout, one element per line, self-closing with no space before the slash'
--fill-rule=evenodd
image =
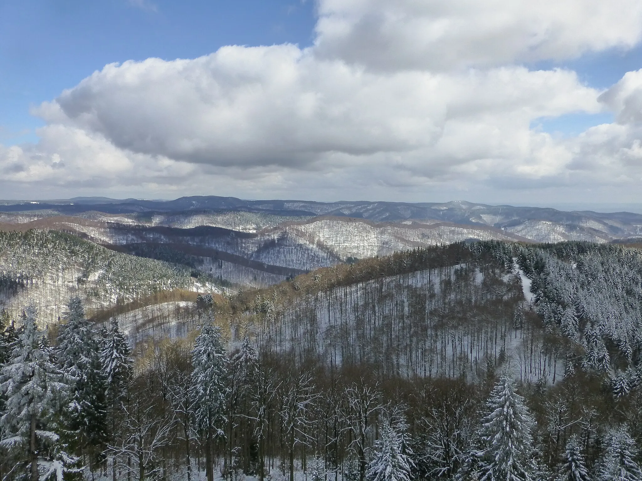
<path id="1" fill-rule="evenodd" d="M 0 0 L 3 199 L 608 208 L 641 181 L 639 0 Z"/>

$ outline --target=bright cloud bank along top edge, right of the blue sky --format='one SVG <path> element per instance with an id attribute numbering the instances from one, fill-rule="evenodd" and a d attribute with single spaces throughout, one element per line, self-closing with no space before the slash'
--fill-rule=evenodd
<path id="1" fill-rule="evenodd" d="M 631 47 L 638 0 L 323 0 L 320 55 L 377 70 L 489 67 Z"/>

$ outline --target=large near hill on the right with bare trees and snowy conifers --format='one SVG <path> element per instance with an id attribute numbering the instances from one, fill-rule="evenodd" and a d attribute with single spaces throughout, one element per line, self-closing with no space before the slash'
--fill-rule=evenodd
<path id="1" fill-rule="evenodd" d="M 221 315 L 298 362 L 472 378 L 507 362 L 524 381 L 586 369 L 626 391 L 640 378 L 641 285 L 638 249 L 457 243 L 318 269 Z"/>

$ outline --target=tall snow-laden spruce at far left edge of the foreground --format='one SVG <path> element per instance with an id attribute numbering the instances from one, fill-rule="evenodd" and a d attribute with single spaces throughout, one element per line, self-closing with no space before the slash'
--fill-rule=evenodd
<path id="1" fill-rule="evenodd" d="M 58 400 L 67 385 L 55 363 L 55 353 L 36 325 L 36 308 L 25 310 L 24 328 L 12 351 L 10 361 L 0 373 L 0 392 L 6 407 L 0 425 L 3 439 L 0 449 L 22 467 L 31 481 L 62 473 L 77 459 L 67 455 L 55 423 Z M 39 475 L 39 465 L 44 477 Z"/>

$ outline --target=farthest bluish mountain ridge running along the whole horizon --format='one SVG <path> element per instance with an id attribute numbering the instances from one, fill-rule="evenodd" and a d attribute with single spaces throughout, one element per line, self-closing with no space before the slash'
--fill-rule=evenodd
<path id="1" fill-rule="evenodd" d="M 375 222 L 409 220 L 485 225 L 537 242 L 586 240 L 606 242 L 642 235 L 642 215 L 632 212 L 565 212 L 554 208 L 486 205 L 466 201 L 406 203 L 297 200 L 243 200 L 234 197 L 192 196 L 171 201 L 147 199 L 74 198 L 55 201 L 3 201 L 0 212 L 45 212 L 49 215 L 105 214 L 183 215 L 196 212 L 254 212 L 281 217 L 352 217 Z M 42 215 L 45 216 L 45 215 Z M 300 220 L 300 219 L 299 219 Z M 217 224 L 207 225 L 216 226 Z"/>

